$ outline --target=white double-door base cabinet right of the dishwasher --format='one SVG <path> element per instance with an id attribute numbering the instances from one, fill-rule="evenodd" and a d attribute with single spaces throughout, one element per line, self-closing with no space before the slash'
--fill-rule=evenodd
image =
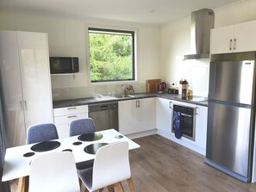
<path id="1" fill-rule="evenodd" d="M 120 133 L 139 133 L 156 128 L 155 106 L 155 97 L 118 102 Z"/>

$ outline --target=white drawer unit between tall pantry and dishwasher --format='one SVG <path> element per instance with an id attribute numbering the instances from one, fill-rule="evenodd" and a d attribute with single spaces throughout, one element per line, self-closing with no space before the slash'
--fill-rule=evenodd
<path id="1" fill-rule="evenodd" d="M 69 123 L 71 121 L 88 117 L 88 105 L 53 108 L 53 114 L 59 138 L 66 138 L 69 137 Z"/>

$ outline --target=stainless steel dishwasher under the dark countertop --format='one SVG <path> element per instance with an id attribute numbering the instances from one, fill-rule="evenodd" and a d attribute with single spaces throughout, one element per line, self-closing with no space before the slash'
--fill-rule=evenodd
<path id="1" fill-rule="evenodd" d="M 97 131 L 114 128 L 118 131 L 118 102 L 90 104 L 89 117 L 93 119 Z"/>

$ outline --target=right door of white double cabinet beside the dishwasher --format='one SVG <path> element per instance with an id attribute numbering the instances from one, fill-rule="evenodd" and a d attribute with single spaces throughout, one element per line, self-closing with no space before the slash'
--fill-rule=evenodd
<path id="1" fill-rule="evenodd" d="M 143 132 L 156 128 L 156 98 L 137 101 L 137 128 Z"/>

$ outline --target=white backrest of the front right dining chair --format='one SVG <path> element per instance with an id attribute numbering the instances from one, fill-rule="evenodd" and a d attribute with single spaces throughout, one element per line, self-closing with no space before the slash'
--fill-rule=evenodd
<path id="1" fill-rule="evenodd" d="M 99 148 L 92 171 L 91 191 L 130 178 L 128 142 L 116 142 Z"/>

